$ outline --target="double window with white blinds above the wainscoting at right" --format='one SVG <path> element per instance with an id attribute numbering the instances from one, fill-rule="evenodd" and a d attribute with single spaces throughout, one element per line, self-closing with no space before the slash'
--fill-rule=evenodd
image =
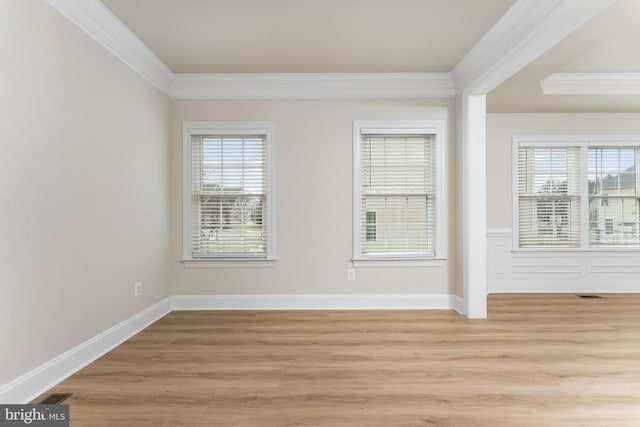
<path id="1" fill-rule="evenodd" d="M 518 248 L 640 248 L 636 137 L 514 137 Z"/>

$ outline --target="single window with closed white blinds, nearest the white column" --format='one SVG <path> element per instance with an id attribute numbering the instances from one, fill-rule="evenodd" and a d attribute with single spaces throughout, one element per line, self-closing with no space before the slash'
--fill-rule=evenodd
<path id="1" fill-rule="evenodd" d="M 441 257 L 441 122 L 354 124 L 354 260 Z"/>

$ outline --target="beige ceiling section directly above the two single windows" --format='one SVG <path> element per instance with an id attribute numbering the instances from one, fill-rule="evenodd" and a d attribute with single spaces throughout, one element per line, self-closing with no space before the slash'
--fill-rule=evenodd
<path id="1" fill-rule="evenodd" d="M 103 3 L 174 73 L 365 73 L 450 71 L 513 0 Z"/>

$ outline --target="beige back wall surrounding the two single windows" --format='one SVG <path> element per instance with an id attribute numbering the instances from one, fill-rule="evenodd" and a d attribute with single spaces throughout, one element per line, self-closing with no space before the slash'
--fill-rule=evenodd
<path id="1" fill-rule="evenodd" d="M 352 257 L 354 120 L 448 121 L 449 261 L 440 267 L 358 268 Z M 185 269 L 182 255 L 182 122 L 275 123 L 274 268 Z M 171 122 L 171 281 L 174 294 L 453 293 L 453 100 L 176 100 Z"/>

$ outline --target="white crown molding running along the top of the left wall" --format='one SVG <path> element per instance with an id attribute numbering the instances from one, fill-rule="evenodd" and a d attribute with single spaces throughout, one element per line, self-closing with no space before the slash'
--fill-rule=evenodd
<path id="1" fill-rule="evenodd" d="M 99 0 L 46 0 L 81 30 L 164 93 L 173 73 Z"/>

